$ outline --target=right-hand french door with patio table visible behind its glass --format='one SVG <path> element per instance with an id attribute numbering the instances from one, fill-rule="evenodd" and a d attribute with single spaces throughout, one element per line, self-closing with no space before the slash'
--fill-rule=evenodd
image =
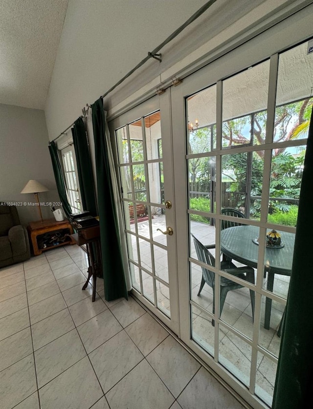
<path id="1" fill-rule="evenodd" d="M 288 260 L 281 248 L 294 240 L 313 106 L 308 41 L 284 40 L 265 50 L 259 36 L 171 89 L 180 338 L 253 408 L 272 404 L 293 245 Z M 222 250 L 224 228 L 238 229 L 229 207 L 242 214 L 234 259 Z M 281 242 L 268 250 L 271 230 Z M 249 280 L 236 273 L 246 266 Z"/>

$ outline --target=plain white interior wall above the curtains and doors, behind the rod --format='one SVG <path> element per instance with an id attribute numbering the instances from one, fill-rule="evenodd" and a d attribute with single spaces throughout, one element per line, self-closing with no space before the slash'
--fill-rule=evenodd
<path id="1" fill-rule="evenodd" d="M 105 100 L 108 107 L 232 23 L 237 24 L 240 17 L 265 1 L 216 1 L 164 48 L 161 63 L 151 59 L 126 82 L 126 90 L 122 86 L 110 94 Z M 286 1 L 272 0 L 270 4 L 275 8 Z M 86 103 L 93 103 L 104 94 L 205 3 L 206 0 L 69 0 L 45 106 L 49 140 L 73 123 Z M 236 30 L 250 23 L 249 17 Z"/>

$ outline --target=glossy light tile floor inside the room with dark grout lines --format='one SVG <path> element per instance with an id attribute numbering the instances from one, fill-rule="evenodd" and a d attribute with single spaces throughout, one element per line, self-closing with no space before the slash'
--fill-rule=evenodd
<path id="1" fill-rule="evenodd" d="M 0 269 L 1 409 L 240 409 L 130 298 L 82 291 L 86 253 L 56 248 Z"/>

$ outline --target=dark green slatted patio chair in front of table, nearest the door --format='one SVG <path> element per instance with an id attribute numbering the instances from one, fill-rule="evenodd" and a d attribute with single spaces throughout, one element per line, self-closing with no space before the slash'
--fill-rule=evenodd
<path id="1" fill-rule="evenodd" d="M 194 244 L 196 247 L 196 252 L 199 261 L 201 263 L 205 263 L 208 266 L 215 267 L 215 258 L 213 255 L 209 252 L 209 248 L 215 248 L 215 245 L 203 245 L 192 233 L 191 233 L 193 239 L 194 239 Z M 210 271 L 209 268 L 205 268 L 201 266 L 202 269 L 202 280 L 201 280 L 201 285 L 200 289 L 198 292 L 198 296 L 200 296 L 201 290 L 206 283 L 208 286 L 212 287 L 213 289 L 213 314 L 215 311 L 215 273 L 213 271 Z M 226 262 L 221 262 L 221 269 L 226 271 L 229 274 L 233 274 L 236 277 L 239 277 L 249 283 L 254 284 L 254 270 L 252 267 L 248 266 L 243 266 L 243 267 L 236 267 L 233 263 L 226 261 Z M 221 289 L 220 289 L 220 316 L 222 314 L 224 302 L 226 299 L 226 295 L 228 291 L 230 290 L 236 290 L 238 288 L 243 288 L 241 284 L 235 283 L 232 280 L 229 280 L 228 278 L 222 277 L 220 279 L 221 282 Z M 254 318 L 254 291 L 250 290 L 250 298 L 251 298 L 251 307 L 252 307 L 252 320 Z M 212 326 L 214 327 L 215 322 L 212 320 Z"/>

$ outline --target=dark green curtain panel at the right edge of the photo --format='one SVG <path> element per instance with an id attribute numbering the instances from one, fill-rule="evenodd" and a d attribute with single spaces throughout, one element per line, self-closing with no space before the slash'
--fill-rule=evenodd
<path id="1" fill-rule="evenodd" d="M 313 113 L 272 408 L 313 408 Z"/>

